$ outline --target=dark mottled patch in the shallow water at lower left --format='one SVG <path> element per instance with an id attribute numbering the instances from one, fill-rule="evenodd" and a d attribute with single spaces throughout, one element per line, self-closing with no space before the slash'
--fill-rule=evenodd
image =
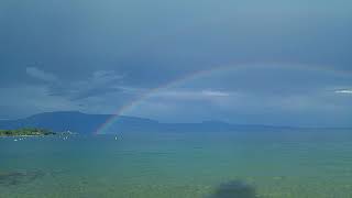
<path id="1" fill-rule="evenodd" d="M 16 186 L 21 184 L 32 183 L 33 180 L 41 178 L 45 175 L 44 172 L 41 170 L 32 170 L 32 172 L 6 172 L 0 173 L 0 185 L 1 186 Z"/>

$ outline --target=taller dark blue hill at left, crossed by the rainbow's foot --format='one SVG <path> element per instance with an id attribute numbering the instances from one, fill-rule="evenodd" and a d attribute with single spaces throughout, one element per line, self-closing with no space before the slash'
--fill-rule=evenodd
<path id="1" fill-rule="evenodd" d="M 111 114 L 86 114 L 78 111 L 45 112 L 24 119 L 2 120 L 0 121 L 0 129 L 41 128 L 55 132 L 69 130 L 89 134 L 94 133 L 109 118 L 111 118 Z M 150 129 L 157 124 L 158 122 L 150 119 L 120 117 L 112 124 L 110 132 Z"/>

